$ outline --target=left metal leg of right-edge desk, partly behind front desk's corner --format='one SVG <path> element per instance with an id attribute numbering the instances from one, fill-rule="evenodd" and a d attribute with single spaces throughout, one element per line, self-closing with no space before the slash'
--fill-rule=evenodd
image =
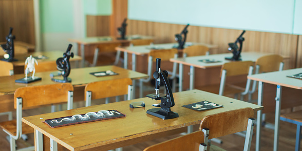
<path id="1" fill-rule="evenodd" d="M 258 83 L 258 105 L 262 106 L 263 99 L 263 82 L 259 81 Z M 261 138 L 261 118 L 262 110 L 257 111 L 257 128 L 256 128 L 256 151 L 260 150 L 260 138 Z"/>

